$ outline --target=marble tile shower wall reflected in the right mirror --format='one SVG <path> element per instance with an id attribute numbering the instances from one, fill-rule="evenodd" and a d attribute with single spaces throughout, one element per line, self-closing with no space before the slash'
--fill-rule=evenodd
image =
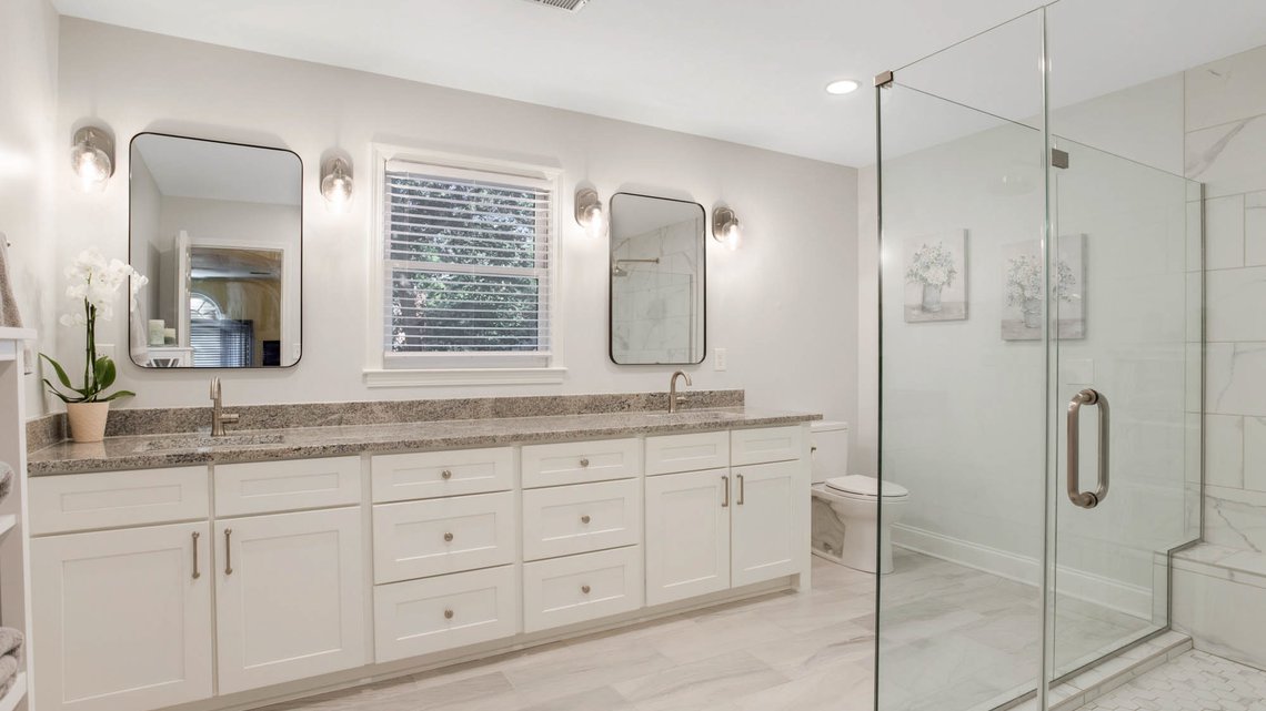
<path id="1" fill-rule="evenodd" d="M 620 264 L 628 276 L 611 281 L 615 297 L 611 330 L 618 349 L 629 358 L 691 361 L 699 233 L 699 220 L 689 220 L 630 237 L 615 249 L 615 259 L 660 259 L 657 264 Z"/>

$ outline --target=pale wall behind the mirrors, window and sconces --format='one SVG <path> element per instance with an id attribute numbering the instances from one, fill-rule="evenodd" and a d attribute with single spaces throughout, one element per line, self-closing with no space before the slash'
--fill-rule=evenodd
<path id="1" fill-rule="evenodd" d="M 62 22 L 57 134 L 97 116 L 122 137 L 161 130 L 290 148 L 305 164 L 304 358 L 284 372 L 222 372 L 229 402 L 453 397 L 665 390 L 671 368 L 617 367 L 606 356 L 608 244 L 570 218 L 579 181 L 725 201 L 744 226 L 737 252 L 709 240 L 708 340 L 729 352 L 694 371 L 696 388 L 743 387 L 755 406 L 855 417 L 856 171 L 767 151 L 449 89 L 296 62 L 82 20 Z M 560 386 L 366 388 L 372 142 L 513 158 L 563 170 L 561 294 L 566 382 Z M 354 159 L 352 211 L 332 215 L 319 158 Z M 127 253 L 127 156 L 104 194 L 58 194 L 58 253 L 85 244 Z M 62 161 L 58 161 L 61 164 Z M 120 319 L 106 333 L 125 343 Z M 351 335 L 349 334 L 356 334 Z M 67 334 L 60 350 L 73 359 Z M 124 406 L 199 405 L 205 372 L 123 364 Z"/>

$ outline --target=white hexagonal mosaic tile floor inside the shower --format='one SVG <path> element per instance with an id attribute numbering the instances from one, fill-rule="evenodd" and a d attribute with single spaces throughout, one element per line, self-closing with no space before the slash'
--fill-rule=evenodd
<path id="1" fill-rule="evenodd" d="M 1266 672 L 1188 652 L 1095 698 L 1081 711 L 1266 711 Z"/>

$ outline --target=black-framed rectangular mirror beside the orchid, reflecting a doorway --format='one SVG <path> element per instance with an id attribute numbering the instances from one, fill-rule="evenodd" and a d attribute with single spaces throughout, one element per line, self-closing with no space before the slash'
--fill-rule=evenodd
<path id="1" fill-rule="evenodd" d="M 291 151 L 142 133 L 130 152 L 132 318 L 147 368 L 299 362 L 303 162 Z"/>

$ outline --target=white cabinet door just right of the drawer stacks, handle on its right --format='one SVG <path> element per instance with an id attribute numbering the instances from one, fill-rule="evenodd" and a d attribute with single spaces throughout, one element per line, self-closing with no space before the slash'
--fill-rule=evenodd
<path id="1" fill-rule="evenodd" d="M 646 479 L 646 602 L 729 587 L 728 469 Z"/>

